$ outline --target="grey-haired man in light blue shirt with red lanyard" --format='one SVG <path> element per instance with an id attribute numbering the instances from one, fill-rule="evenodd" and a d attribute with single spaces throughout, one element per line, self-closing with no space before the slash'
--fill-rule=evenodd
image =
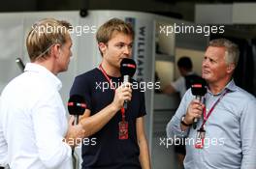
<path id="1" fill-rule="evenodd" d="M 186 142 L 186 169 L 256 168 L 256 99 L 232 78 L 239 53 L 234 42 L 209 42 L 202 64 L 208 92 L 200 102 L 188 90 L 167 126 L 168 137 L 194 140 Z"/>

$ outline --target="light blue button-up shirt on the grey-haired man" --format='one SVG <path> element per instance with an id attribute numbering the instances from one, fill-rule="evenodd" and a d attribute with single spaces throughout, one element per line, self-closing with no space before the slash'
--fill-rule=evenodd
<path id="1" fill-rule="evenodd" d="M 217 95 L 208 91 L 205 96 L 207 113 L 225 90 L 229 92 L 215 106 L 205 125 L 204 149 L 195 148 L 197 129 L 201 127 L 203 118 L 196 129 L 180 129 L 180 119 L 195 98 L 190 89 L 167 125 L 168 137 L 187 136 L 186 169 L 256 169 L 256 99 L 232 80 Z"/>

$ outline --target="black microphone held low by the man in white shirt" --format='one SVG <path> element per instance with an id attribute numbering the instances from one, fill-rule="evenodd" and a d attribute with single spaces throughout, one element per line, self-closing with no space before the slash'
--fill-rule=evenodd
<path id="1" fill-rule="evenodd" d="M 73 95 L 68 101 L 68 110 L 70 115 L 76 116 L 75 124 L 79 124 L 80 115 L 83 115 L 86 108 L 85 100 L 80 95 Z"/>

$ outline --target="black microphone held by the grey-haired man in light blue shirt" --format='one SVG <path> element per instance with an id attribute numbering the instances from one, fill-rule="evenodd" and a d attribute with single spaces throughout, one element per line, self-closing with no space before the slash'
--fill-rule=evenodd
<path id="1" fill-rule="evenodd" d="M 198 78 L 193 82 L 191 85 L 191 91 L 192 95 L 195 96 L 196 99 L 198 99 L 200 102 L 203 101 L 204 96 L 207 93 L 207 82 L 203 78 Z M 198 119 L 195 118 L 193 122 L 193 128 L 195 129 L 197 127 Z"/>

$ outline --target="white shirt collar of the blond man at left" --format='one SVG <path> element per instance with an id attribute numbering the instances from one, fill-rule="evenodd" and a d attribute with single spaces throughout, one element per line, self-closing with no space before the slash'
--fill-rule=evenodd
<path id="1" fill-rule="evenodd" d="M 54 75 L 51 71 L 46 69 L 45 67 L 34 64 L 34 63 L 27 63 L 24 71 L 34 71 L 43 74 L 48 78 L 48 81 L 52 83 L 52 85 L 59 91 L 62 87 L 61 81 Z"/>

